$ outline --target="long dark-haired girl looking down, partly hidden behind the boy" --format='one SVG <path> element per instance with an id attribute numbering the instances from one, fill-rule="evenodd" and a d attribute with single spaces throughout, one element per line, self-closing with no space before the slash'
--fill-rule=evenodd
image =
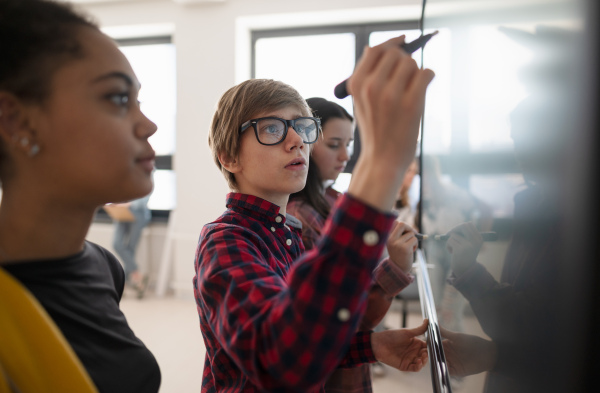
<path id="1" fill-rule="evenodd" d="M 337 179 L 350 159 L 354 119 L 343 107 L 324 98 L 309 98 L 306 102 L 313 116 L 321 119 L 323 135 L 313 145 L 306 186 L 290 196 L 287 212 L 302 221 L 302 241 L 309 250 L 318 241 L 331 207 L 340 196 L 330 183 Z M 367 312 L 360 330 L 374 329 L 385 316 L 394 296 L 412 281 L 409 272 L 417 247 L 414 234 L 409 225 L 396 223 L 387 243 L 390 257 L 374 271 Z M 372 392 L 369 365 L 337 369 L 327 381 L 325 390 L 329 393 Z"/>

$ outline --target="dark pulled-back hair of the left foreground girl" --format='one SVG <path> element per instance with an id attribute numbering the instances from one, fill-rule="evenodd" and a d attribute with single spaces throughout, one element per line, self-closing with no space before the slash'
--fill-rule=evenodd
<path id="1" fill-rule="evenodd" d="M 56 70 L 84 56 L 77 38 L 77 29 L 84 26 L 98 29 L 65 3 L 0 0 L 0 92 L 43 103 Z M 5 161 L 0 141 L 0 169 Z"/>

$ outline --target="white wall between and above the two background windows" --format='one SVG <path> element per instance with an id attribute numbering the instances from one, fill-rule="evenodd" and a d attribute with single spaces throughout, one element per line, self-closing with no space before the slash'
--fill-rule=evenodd
<path id="1" fill-rule="evenodd" d="M 92 3 L 82 7 L 107 27 L 108 33 L 123 37 L 139 31 L 151 34 L 156 28 L 173 33 L 177 51 L 177 150 L 173 162 L 177 211 L 169 286 L 183 297 L 192 294 L 200 229 L 225 208 L 228 188 L 212 162 L 208 127 L 221 94 L 249 78 L 250 29 L 414 20 L 421 5 L 421 0 L 223 0 L 187 5 L 173 0 L 89 1 Z M 138 32 L 115 33 L 123 26 L 137 27 Z M 146 231 L 146 237 L 151 231 Z M 95 224 L 88 239 L 110 247 L 111 233 L 107 224 Z M 162 233 L 166 233 L 164 228 Z M 152 242 L 162 241 L 160 235 L 152 236 Z M 144 244 L 142 249 L 148 249 Z M 145 251 L 147 260 L 140 254 L 140 264 L 148 265 L 153 273 L 160 261 L 159 249 L 162 246 Z"/>

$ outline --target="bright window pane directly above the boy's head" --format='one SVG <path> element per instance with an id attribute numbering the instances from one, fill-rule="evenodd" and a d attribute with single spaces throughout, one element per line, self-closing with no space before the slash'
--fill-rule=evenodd
<path id="1" fill-rule="evenodd" d="M 255 51 L 255 78 L 280 80 L 304 98 L 323 97 L 353 113 L 352 99 L 336 98 L 333 89 L 354 70 L 354 34 L 261 38 Z"/>

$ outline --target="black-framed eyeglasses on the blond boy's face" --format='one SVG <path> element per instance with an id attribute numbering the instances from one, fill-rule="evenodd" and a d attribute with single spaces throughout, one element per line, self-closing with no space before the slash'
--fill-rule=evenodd
<path id="1" fill-rule="evenodd" d="M 299 117 L 293 120 L 280 119 L 279 117 L 261 117 L 248 120 L 240 126 L 240 134 L 250 126 L 261 145 L 276 145 L 287 136 L 290 127 L 296 131 L 304 143 L 315 143 L 321 130 L 321 121 L 316 117 Z"/>

